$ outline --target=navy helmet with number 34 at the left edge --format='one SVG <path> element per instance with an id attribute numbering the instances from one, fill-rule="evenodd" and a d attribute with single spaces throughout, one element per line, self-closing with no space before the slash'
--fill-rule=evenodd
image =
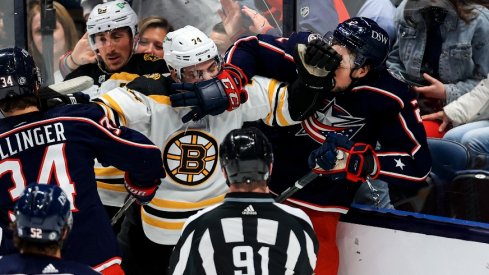
<path id="1" fill-rule="evenodd" d="M 37 95 L 41 74 L 32 56 L 24 49 L 0 49 L 0 100 L 21 95 Z"/>

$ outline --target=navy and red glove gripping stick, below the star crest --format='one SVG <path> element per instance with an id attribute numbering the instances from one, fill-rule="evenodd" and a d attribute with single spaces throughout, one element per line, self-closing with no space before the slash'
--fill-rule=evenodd
<path id="1" fill-rule="evenodd" d="M 353 143 L 346 136 L 328 133 L 323 145 L 309 155 L 309 167 L 317 174 L 329 175 L 333 180 L 347 179 L 364 182 L 375 179 L 380 163 L 372 146 Z"/>

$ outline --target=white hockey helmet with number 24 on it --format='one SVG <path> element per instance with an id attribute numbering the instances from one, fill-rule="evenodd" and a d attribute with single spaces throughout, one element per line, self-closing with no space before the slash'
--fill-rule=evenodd
<path id="1" fill-rule="evenodd" d="M 163 41 L 164 59 L 168 69 L 182 79 L 182 69 L 219 58 L 217 46 L 207 35 L 192 26 L 169 32 Z"/>

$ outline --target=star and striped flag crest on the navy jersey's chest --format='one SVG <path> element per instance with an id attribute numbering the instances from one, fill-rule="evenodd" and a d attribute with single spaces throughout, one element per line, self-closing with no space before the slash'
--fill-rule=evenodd
<path id="1" fill-rule="evenodd" d="M 322 144 L 328 132 L 336 132 L 352 139 L 365 126 L 365 118 L 354 117 L 331 100 L 324 108 L 302 122 L 297 136 L 308 135 Z"/>

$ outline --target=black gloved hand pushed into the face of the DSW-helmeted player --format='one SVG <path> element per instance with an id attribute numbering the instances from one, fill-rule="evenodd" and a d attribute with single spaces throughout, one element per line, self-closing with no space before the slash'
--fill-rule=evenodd
<path id="1" fill-rule="evenodd" d="M 322 39 L 314 39 L 307 45 L 297 44 L 294 51 L 299 78 L 306 87 L 318 91 L 335 86 L 334 71 L 341 59 L 341 55 Z"/>

